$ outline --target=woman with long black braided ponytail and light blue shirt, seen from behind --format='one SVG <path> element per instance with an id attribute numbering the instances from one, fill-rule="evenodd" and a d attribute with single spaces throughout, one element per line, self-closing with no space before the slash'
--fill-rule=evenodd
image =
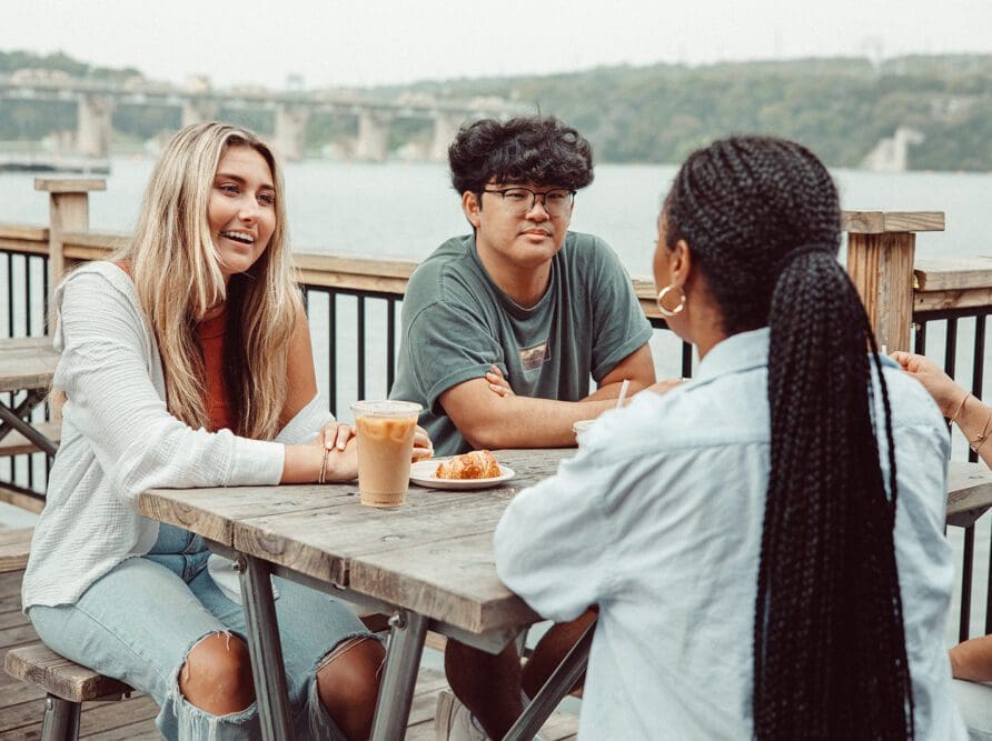
<path id="1" fill-rule="evenodd" d="M 675 177 L 654 274 L 698 372 L 604 414 L 495 537 L 537 612 L 599 608 L 579 735 L 964 738 L 946 430 L 877 356 L 839 243 L 800 144 L 717 141 Z"/>

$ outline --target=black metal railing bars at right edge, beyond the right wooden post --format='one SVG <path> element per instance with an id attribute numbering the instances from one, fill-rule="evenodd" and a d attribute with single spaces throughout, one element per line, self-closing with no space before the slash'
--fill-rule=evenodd
<path id="1" fill-rule="evenodd" d="M 986 319 L 992 314 L 992 307 L 976 307 L 971 309 L 945 309 L 939 311 L 921 311 L 913 314 L 914 341 L 913 350 L 925 354 L 927 346 L 943 341 L 943 368 L 944 371 L 959 383 L 970 388 L 978 398 L 982 398 L 985 373 L 985 330 Z M 971 328 L 970 342 L 959 332 L 959 323 L 974 321 Z M 936 337 L 932 337 L 932 336 Z M 963 347 L 962 347 L 963 346 Z M 966 381 L 968 373 L 961 372 L 959 366 L 959 352 L 964 349 L 971 356 L 971 382 Z M 966 441 L 965 441 L 966 442 Z M 968 449 L 968 460 L 976 461 L 978 454 Z M 986 525 L 992 518 L 983 517 L 976 522 L 962 528 L 962 562 L 961 562 L 961 608 L 958 620 L 958 638 L 963 641 L 970 637 L 972 618 L 972 589 L 975 565 L 975 525 L 984 522 Z M 985 584 L 985 619 L 984 632 L 992 633 L 992 530 L 989 531 L 990 578 Z"/>

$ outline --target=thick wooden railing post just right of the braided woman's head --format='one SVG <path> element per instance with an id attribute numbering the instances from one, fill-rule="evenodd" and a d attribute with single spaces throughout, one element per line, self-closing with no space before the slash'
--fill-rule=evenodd
<path id="1" fill-rule="evenodd" d="M 879 346 L 909 350 L 917 231 L 943 231 L 942 211 L 844 211 L 847 272 Z"/>

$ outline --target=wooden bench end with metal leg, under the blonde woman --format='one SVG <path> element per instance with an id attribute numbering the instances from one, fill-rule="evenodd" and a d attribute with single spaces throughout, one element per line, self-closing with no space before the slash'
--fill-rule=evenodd
<path id="1" fill-rule="evenodd" d="M 46 691 L 48 697 L 41 724 L 43 741 L 79 738 L 79 713 L 83 702 L 120 700 L 131 693 L 131 688 L 123 682 L 80 667 L 43 643 L 10 649 L 3 669 L 14 679 Z"/>

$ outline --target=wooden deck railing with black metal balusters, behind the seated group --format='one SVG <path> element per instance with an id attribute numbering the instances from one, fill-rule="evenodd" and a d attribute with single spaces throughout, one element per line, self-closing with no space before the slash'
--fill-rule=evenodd
<path id="1" fill-rule="evenodd" d="M 38 180 L 36 188 L 49 193 L 49 227 L 0 223 L 0 297 L 3 276 L 7 307 L 0 302 L 0 336 L 42 334 L 51 287 L 73 264 L 100 259 L 120 246 L 126 234 L 97 233 L 88 229 L 89 192 L 103 190 L 101 180 Z M 992 258 L 915 260 L 917 232 L 942 231 L 942 212 L 846 211 L 843 229 L 847 234 L 847 269 L 865 303 L 879 343 L 890 351 L 913 348 L 932 350 L 944 344 L 943 367 L 959 377 L 981 398 L 984 374 L 985 318 L 992 313 Z M 19 256 L 19 257 L 16 257 Z M 327 393 L 331 410 L 344 409 L 343 400 L 385 393 L 391 385 L 398 344 L 398 309 L 417 263 L 350 256 L 297 253 L 299 282 L 304 287 L 316 346 L 318 383 Z M 16 264 L 16 260 L 23 264 Z M 14 274 L 23 281 L 17 290 Z M 634 288 L 657 330 L 665 323 L 655 306 L 651 280 L 635 279 Z M 22 306 L 16 306 L 14 292 Z M 26 314 L 14 322 L 14 314 Z M 378 320 L 376 331 L 367 326 Z M 959 322 L 974 321 L 970 368 L 958 373 Z M 354 339 L 355 350 L 343 348 Z M 321 354 L 326 353 L 326 354 Z M 354 370 L 348 368 L 355 363 Z M 683 346 L 682 374 L 690 375 L 692 351 Z M 323 374 L 323 378 L 321 378 Z M 964 454 L 960 440 L 955 455 Z M 30 458 L 30 457 L 22 457 Z M 974 459 L 974 455 L 971 454 Z M 39 471 L 39 459 L 42 470 Z M 8 473 L 28 477 L 28 485 L 47 479 L 43 457 L 20 464 L 0 463 L 0 478 Z M 989 522 L 985 517 L 979 521 Z M 973 574 L 974 528 L 964 529 L 962 568 L 962 635 L 969 634 Z M 990 533 L 992 540 L 992 533 Z M 992 572 L 992 563 L 990 563 Z M 992 581 L 984 585 L 985 632 L 992 632 Z"/>

